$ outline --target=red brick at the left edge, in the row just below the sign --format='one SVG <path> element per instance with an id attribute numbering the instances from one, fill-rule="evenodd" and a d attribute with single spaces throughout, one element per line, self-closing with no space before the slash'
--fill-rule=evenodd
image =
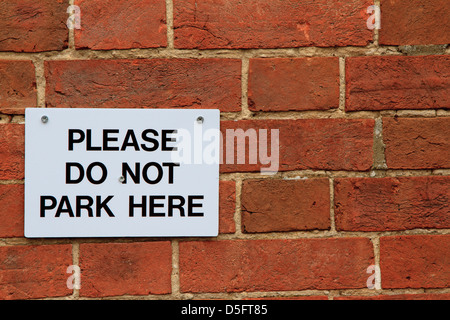
<path id="1" fill-rule="evenodd" d="M 0 299 L 37 299 L 72 294 L 67 288 L 71 245 L 0 247 Z"/>

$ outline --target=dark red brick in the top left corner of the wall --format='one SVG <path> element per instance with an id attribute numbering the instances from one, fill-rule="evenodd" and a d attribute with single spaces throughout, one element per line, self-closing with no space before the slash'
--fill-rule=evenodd
<path id="1" fill-rule="evenodd" d="M 41 52 L 67 48 L 69 1 L 0 2 L 0 51 Z"/>

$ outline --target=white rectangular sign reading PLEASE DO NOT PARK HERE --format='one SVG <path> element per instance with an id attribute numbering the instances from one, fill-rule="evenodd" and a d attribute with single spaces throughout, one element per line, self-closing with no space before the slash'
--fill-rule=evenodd
<path id="1" fill-rule="evenodd" d="M 217 236 L 218 110 L 29 108 L 26 237 Z"/>

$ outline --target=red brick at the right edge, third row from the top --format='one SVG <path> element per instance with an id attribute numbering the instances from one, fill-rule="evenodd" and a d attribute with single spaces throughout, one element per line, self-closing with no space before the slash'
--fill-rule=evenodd
<path id="1" fill-rule="evenodd" d="M 450 118 L 384 118 L 390 169 L 450 168 Z"/>

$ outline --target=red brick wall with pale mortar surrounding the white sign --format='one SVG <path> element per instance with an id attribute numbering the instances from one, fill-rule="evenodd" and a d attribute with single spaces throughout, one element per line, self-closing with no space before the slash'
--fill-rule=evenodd
<path id="1" fill-rule="evenodd" d="M 2 0 L 0 299 L 450 299 L 449 16 L 448 0 Z M 24 238 L 25 108 L 124 106 L 279 129 L 279 171 L 221 166 L 217 238 Z"/>

